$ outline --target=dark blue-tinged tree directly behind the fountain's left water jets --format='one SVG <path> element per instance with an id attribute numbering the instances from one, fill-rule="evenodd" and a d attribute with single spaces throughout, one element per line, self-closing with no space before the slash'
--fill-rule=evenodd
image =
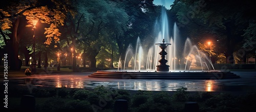
<path id="1" fill-rule="evenodd" d="M 142 40 L 146 37 L 154 37 L 154 23 L 157 18 L 156 13 L 159 12 L 155 11 L 151 0 L 121 1 L 120 4 L 129 15 L 127 30 L 123 35 L 115 35 L 121 60 L 124 60 L 125 51 L 129 44 L 135 45 L 138 37 Z"/>

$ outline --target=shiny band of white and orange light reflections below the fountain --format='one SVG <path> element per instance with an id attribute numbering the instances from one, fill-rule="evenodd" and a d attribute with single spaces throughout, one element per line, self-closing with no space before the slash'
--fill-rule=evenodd
<path id="1" fill-rule="evenodd" d="M 30 81 L 32 80 L 32 81 Z M 34 81 L 36 80 L 36 81 Z M 105 80 L 105 79 L 104 79 Z M 33 83 L 32 83 L 33 82 Z M 67 88 L 96 88 L 103 85 L 106 88 L 142 90 L 142 91 L 176 91 L 177 88 L 186 87 L 187 91 L 214 92 L 218 89 L 215 80 L 84 80 L 81 77 L 62 78 L 56 76 L 46 79 L 26 79 L 19 85 L 33 84 L 35 86 L 53 86 Z"/>

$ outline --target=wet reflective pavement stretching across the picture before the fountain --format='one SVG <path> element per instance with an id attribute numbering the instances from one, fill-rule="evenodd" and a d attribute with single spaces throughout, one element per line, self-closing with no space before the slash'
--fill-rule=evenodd
<path id="1" fill-rule="evenodd" d="M 103 79 L 88 77 L 93 72 L 40 74 L 28 77 L 11 77 L 9 83 L 14 86 L 47 86 L 68 88 L 106 88 L 176 91 L 186 87 L 189 92 L 249 92 L 256 90 L 256 72 L 233 72 L 238 79 L 220 80 L 149 80 L 149 79 Z"/>

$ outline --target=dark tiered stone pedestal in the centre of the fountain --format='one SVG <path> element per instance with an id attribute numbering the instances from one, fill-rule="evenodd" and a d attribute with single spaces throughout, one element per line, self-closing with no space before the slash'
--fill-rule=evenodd
<path id="1" fill-rule="evenodd" d="M 155 43 L 162 49 L 162 51 L 159 53 L 161 55 L 161 59 L 158 60 L 160 64 L 157 65 L 157 72 L 169 72 L 169 65 L 166 64 L 168 61 L 165 59 L 165 55 L 167 55 L 167 53 L 165 52 L 165 48 L 167 48 L 170 43 L 164 43 L 164 39 L 162 42 L 163 43 Z"/>

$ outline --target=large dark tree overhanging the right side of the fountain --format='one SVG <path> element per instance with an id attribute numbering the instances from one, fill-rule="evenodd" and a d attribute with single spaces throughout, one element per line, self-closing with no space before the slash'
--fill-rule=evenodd
<path id="1" fill-rule="evenodd" d="M 189 37 L 198 40 L 210 36 L 214 38 L 212 40 L 220 40 L 219 46 L 227 48 L 225 53 L 223 51 L 227 62 L 233 63 L 233 46 L 243 40 L 248 21 L 255 19 L 251 15 L 255 12 L 252 4 L 252 1 L 177 0 L 172 10 L 177 14 L 180 27 L 186 27 L 185 32 L 191 32 L 187 33 Z"/>

